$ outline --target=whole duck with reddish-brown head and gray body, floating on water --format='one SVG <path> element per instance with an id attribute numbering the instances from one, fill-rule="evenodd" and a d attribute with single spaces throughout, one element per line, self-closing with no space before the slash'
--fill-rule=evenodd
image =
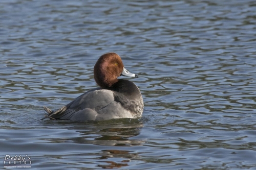
<path id="1" fill-rule="evenodd" d="M 57 111 L 44 106 L 48 113 L 45 118 L 84 121 L 141 116 L 144 104 L 140 90 L 129 80 L 117 79 L 121 75 L 138 77 L 124 68 L 116 53 L 102 55 L 94 66 L 94 79 L 100 87 L 83 93 Z"/>

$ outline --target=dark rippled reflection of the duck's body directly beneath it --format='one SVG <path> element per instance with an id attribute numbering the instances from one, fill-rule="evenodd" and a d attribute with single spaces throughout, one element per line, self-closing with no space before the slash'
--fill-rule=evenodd
<path id="1" fill-rule="evenodd" d="M 74 123 L 70 122 L 68 125 L 74 125 Z M 79 132 L 79 136 L 66 140 L 105 146 L 141 145 L 144 143 L 144 139 L 130 138 L 138 136 L 142 127 L 143 124 L 140 119 L 130 118 L 87 122 L 86 126 L 83 123 L 76 123 L 75 126 L 69 129 Z M 63 139 L 61 140 L 63 141 Z"/>

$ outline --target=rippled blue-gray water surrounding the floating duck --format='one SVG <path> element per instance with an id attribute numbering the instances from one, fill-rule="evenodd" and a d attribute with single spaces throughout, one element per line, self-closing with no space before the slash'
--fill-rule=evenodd
<path id="1" fill-rule="evenodd" d="M 252 0 L 2 0 L 1 168 L 27 155 L 31 169 L 256 169 L 255 11 Z M 107 52 L 139 74 L 143 116 L 40 120 L 42 106 L 97 87 Z"/>

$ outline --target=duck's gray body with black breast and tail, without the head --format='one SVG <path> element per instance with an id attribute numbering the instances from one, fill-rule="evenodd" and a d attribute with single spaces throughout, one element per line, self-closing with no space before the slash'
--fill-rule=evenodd
<path id="1" fill-rule="evenodd" d="M 47 117 L 70 120 L 104 120 L 112 118 L 136 118 L 143 112 L 143 100 L 138 87 L 128 80 L 120 79 L 109 89 L 95 88 Z"/>

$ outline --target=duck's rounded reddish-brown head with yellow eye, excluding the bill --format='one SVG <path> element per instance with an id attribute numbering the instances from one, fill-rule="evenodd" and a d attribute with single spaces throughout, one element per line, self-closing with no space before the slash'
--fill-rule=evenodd
<path id="1" fill-rule="evenodd" d="M 111 87 L 118 81 L 123 71 L 123 63 L 116 53 L 106 53 L 100 56 L 94 66 L 95 82 L 101 87 Z"/>

